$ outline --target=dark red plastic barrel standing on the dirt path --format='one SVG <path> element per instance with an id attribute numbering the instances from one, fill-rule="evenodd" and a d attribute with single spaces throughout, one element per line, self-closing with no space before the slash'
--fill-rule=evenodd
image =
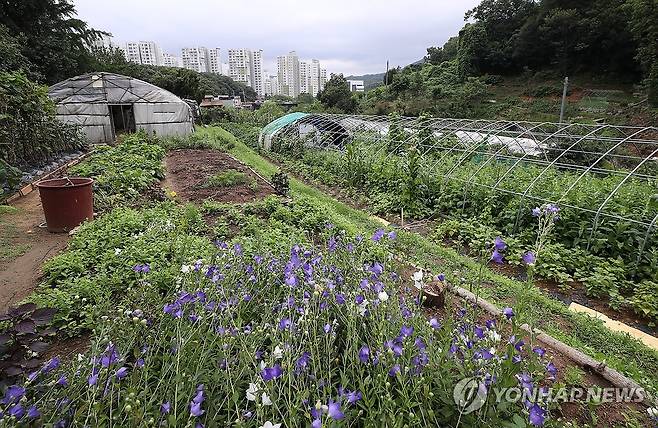
<path id="1" fill-rule="evenodd" d="M 91 178 L 55 178 L 37 183 L 48 231 L 68 232 L 94 216 Z"/>

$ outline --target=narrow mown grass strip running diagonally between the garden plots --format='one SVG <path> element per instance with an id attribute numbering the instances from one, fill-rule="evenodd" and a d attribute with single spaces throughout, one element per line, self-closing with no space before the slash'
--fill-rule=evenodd
<path id="1" fill-rule="evenodd" d="M 222 128 L 206 128 L 200 135 L 217 136 L 232 141 L 230 153 L 260 174 L 272 176 L 278 167 L 256 153 Z M 369 233 L 381 224 L 369 214 L 339 202 L 322 191 L 290 178 L 291 193 L 313 199 L 341 221 L 341 227 L 354 233 Z M 479 264 L 457 251 L 431 242 L 418 234 L 400 231 L 399 250 L 415 263 L 434 272 L 445 272 L 453 283 L 468 287 L 477 278 Z M 652 392 L 658 391 L 658 352 L 627 334 L 608 330 L 602 322 L 569 311 L 535 287 L 485 269 L 483 279 L 489 284 L 480 295 L 498 306 L 514 306 L 521 321 L 539 327 L 551 336 L 605 362 L 633 378 Z"/>

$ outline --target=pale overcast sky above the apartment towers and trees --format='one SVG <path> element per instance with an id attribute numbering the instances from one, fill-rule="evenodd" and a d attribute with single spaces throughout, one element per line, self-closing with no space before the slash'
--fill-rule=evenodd
<path id="1" fill-rule="evenodd" d="M 189 46 L 263 49 L 265 69 L 295 50 L 331 73 L 379 73 L 442 45 L 479 0 L 74 0 L 79 16 L 115 41 L 152 40 L 180 56 Z"/>

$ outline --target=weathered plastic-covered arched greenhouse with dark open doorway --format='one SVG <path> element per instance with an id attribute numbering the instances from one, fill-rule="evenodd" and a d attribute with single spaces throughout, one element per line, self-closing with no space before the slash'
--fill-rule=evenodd
<path id="1" fill-rule="evenodd" d="M 51 86 L 57 118 L 79 125 L 90 143 L 109 143 L 118 134 L 184 136 L 194 131 L 190 106 L 150 83 L 113 73 L 88 73 Z"/>

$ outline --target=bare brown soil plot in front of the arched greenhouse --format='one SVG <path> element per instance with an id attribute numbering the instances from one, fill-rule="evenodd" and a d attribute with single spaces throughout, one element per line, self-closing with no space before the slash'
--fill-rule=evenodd
<path id="1" fill-rule="evenodd" d="M 246 165 L 217 150 L 180 149 L 169 152 L 166 158 L 165 189 L 173 190 L 186 202 L 245 203 L 276 194 L 274 188 Z M 221 172 L 236 170 L 246 174 L 246 183 L 231 186 L 208 186 L 208 180 Z"/>

